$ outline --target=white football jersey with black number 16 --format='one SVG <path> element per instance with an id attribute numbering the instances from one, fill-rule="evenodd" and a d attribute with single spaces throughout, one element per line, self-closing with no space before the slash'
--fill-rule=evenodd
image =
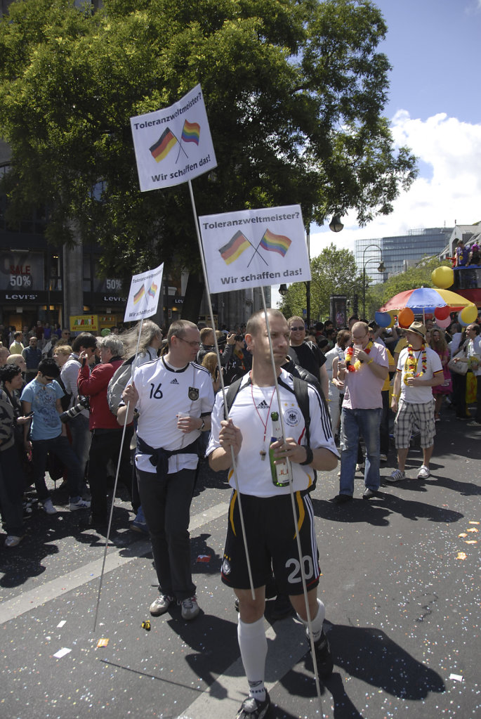
<path id="1" fill-rule="evenodd" d="M 133 374 L 139 401 L 137 434 L 149 446 L 167 450 L 180 449 L 192 444 L 200 431 L 185 434 L 177 429 L 179 412 L 191 417 L 209 415 L 214 403 L 210 372 L 189 362 L 177 370 L 167 365 L 164 358 L 136 367 Z M 136 467 L 144 472 L 156 472 L 149 454 L 136 453 Z M 169 474 L 180 470 L 195 470 L 197 454 L 174 454 L 169 458 Z"/>

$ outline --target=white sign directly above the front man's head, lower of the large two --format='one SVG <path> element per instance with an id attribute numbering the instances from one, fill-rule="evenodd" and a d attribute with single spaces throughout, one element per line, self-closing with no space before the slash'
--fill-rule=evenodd
<path id="1" fill-rule="evenodd" d="M 299 205 L 199 218 L 210 292 L 311 279 Z"/>

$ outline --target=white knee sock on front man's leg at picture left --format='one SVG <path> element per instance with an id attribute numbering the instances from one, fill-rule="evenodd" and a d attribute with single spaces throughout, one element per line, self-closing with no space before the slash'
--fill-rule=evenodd
<path id="1" fill-rule="evenodd" d="M 259 702 L 266 698 L 264 674 L 266 672 L 267 639 L 264 618 L 252 624 L 243 622 L 239 617 L 237 636 L 240 656 L 249 682 L 249 695 Z"/>

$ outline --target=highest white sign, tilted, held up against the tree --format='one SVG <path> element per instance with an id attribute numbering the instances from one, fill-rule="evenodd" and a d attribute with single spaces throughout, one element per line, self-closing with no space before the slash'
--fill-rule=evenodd
<path id="1" fill-rule="evenodd" d="M 217 167 L 200 85 L 130 123 L 142 192 L 180 185 Z"/>

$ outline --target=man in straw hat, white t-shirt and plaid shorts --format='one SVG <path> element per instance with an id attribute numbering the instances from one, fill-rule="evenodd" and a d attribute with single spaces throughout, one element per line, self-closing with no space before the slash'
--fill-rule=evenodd
<path id="1" fill-rule="evenodd" d="M 414 424 L 421 432 L 423 450 L 423 464 L 418 472 L 418 479 L 426 480 L 431 474 L 429 460 L 436 434 L 432 388 L 444 382 L 439 355 L 424 344 L 424 324 L 413 322 L 406 330 L 406 339 L 408 345 L 399 355 L 391 401 L 391 408 L 396 412 L 394 439 L 398 451 L 398 469 L 392 472 L 391 477 L 386 477 L 388 482 L 406 479 L 404 467 Z"/>

